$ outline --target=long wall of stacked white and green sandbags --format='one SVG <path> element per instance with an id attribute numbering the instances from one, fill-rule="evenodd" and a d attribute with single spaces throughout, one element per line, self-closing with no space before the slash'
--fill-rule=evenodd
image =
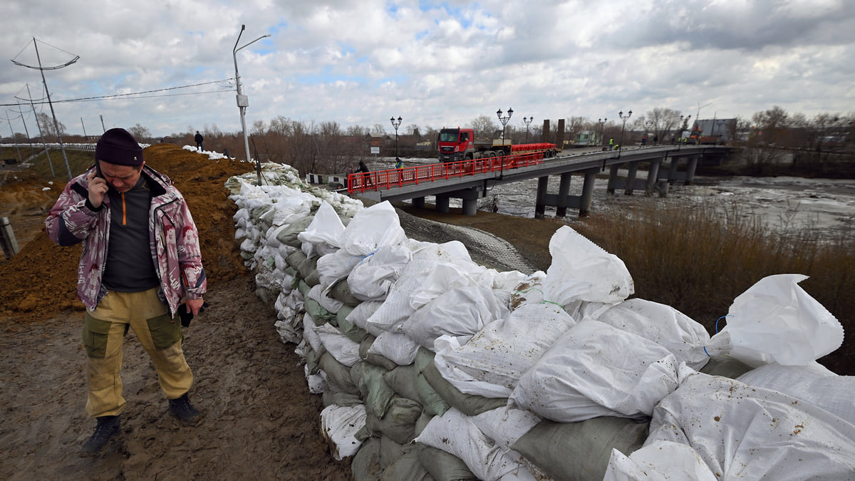
<path id="1" fill-rule="evenodd" d="M 282 341 L 304 357 L 307 389 L 326 406 L 321 428 L 336 459 L 351 457 L 354 478 L 630 479 L 659 466 L 704 479 L 721 466 L 720 479 L 740 453 L 751 461 L 743 474 L 771 472 L 749 446 L 699 455 L 694 447 L 714 445 L 715 433 L 673 435 L 700 413 L 733 429 L 704 403 L 757 370 L 716 355 L 728 343 L 716 345 L 681 312 L 628 299 L 634 288 L 620 259 L 572 229 L 553 237 L 547 272 L 498 272 L 473 263 L 460 242 L 407 239 L 387 203 L 364 208 L 288 166 L 264 169 L 270 186 L 252 186 L 252 174 L 227 182 L 237 241 Z M 787 369 L 736 391 L 768 407 L 769 395 L 752 391 L 786 390 Z M 834 386 L 823 392 L 852 387 L 823 377 Z M 810 396 L 775 393 L 784 396 L 775 399 L 781 417 L 807 416 L 782 402 Z M 834 419 L 811 411 L 812 423 L 834 425 L 837 436 L 817 428 L 802 436 L 807 448 L 793 449 L 845 469 L 855 453 L 847 409 Z M 730 414 L 740 429 L 746 413 L 754 412 Z M 763 443 L 780 433 L 744 434 Z M 818 453 L 828 441 L 844 446 L 831 460 Z"/>

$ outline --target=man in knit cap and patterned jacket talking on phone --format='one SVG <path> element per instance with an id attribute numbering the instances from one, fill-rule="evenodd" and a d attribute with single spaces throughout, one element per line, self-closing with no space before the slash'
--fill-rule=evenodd
<path id="1" fill-rule="evenodd" d="M 102 454 L 121 433 L 122 341 L 133 329 L 184 425 L 202 415 L 187 397 L 193 382 L 176 313 L 198 314 L 207 290 L 196 224 L 166 175 L 145 165 L 133 135 L 111 128 L 95 165 L 69 181 L 44 225 L 59 246 L 83 242 L 77 295 L 86 307 L 86 413 L 97 420 L 80 456 Z"/>

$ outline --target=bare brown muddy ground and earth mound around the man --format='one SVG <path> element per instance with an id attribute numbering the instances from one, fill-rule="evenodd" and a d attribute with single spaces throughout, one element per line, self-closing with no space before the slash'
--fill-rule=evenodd
<path id="1" fill-rule="evenodd" d="M 280 341 L 275 313 L 254 294 L 234 242 L 236 208 L 223 183 L 251 167 L 174 145 L 152 145 L 144 156 L 184 193 L 203 241 L 210 306 L 185 330 L 185 352 L 195 375 L 191 400 L 205 417 L 189 428 L 168 415 L 132 331 L 121 439 L 100 459 L 77 456 L 95 425 L 84 411 L 83 312 L 74 294 L 80 247 L 57 247 L 44 235 L 61 185 L 3 172 L 0 216 L 11 218 L 21 252 L 0 264 L 0 478 L 350 478 L 349 460 L 334 460 L 321 436 L 321 396 L 310 395 L 295 346 Z M 453 218 L 504 237 L 540 269 L 549 265 L 557 223 L 486 212 Z"/>

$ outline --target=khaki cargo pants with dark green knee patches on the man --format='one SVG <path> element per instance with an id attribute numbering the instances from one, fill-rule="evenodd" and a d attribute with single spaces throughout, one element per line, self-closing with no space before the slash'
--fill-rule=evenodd
<path id="1" fill-rule="evenodd" d="M 157 288 L 136 293 L 109 291 L 92 312 L 86 312 L 83 344 L 86 348 L 86 413 L 93 418 L 115 416 L 125 407 L 121 396 L 122 341 L 128 327 L 155 365 L 167 399 L 184 395 L 193 373 L 181 349 L 181 324 L 169 317 Z"/>

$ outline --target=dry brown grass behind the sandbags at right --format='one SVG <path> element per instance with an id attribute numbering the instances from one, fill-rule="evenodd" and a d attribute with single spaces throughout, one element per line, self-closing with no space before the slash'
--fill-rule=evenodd
<path id="1" fill-rule="evenodd" d="M 738 209 L 657 205 L 623 216 L 588 217 L 573 227 L 623 260 L 636 296 L 673 306 L 711 333 L 734 298 L 763 277 L 810 276 L 799 286 L 846 330 L 843 346 L 821 362 L 838 374 L 855 375 L 852 233 L 828 239 L 811 229 L 778 232 Z"/>

